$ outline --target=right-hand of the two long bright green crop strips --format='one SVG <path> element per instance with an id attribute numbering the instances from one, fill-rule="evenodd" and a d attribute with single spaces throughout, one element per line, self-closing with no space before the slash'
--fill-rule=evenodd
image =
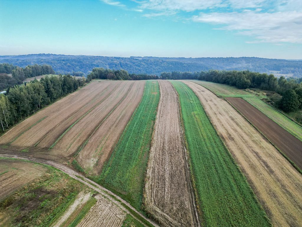
<path id="1" fill-rule="evenodd" d="M 269 226 L 265 212 L 198 97 L 182 82 L 171 82 L 179 94 L 193 185 L 204 225 Z"/>

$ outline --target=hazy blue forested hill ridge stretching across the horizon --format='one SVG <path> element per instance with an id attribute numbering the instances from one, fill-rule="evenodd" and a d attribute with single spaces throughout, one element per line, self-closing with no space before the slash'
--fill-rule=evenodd
<path id="1" fill-rule="evenodd" d="M 158 57 L 103 57 L 63 54 L 27 54 L 0 56 L 0 63 L 20 67 L 32 64 L 49 64 L 56 73 L 84 72 L 94 67 L 124 69 L 129 73 L 156 74 L 171 71 L 249 70 L 269 73 L 280 71 L 302 76 L 302 60 L 282 60 L 268 58 L 158 58 Z"/>

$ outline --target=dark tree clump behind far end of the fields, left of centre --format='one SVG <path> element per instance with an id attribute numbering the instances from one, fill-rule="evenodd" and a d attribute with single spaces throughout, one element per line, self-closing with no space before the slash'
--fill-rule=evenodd
<path id="1" fill-rule="evenodd" d="M 111 70 L 96 67 L 92 69 L 92 72 L 87 75 L 88 81 L 93 79 L 108 79 L 108 80 L 151 80 L 158 79 L 156 75 L 148 74 L 129 74 L 126 70 Z"/>

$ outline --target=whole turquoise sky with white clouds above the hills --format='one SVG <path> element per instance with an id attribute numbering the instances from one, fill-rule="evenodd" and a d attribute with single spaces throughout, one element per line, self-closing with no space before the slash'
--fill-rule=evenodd
<path id="1" fill-rule="evenodd" d="M 1 0 L 0 55 L 302 59 L 302 0 Z"/>

